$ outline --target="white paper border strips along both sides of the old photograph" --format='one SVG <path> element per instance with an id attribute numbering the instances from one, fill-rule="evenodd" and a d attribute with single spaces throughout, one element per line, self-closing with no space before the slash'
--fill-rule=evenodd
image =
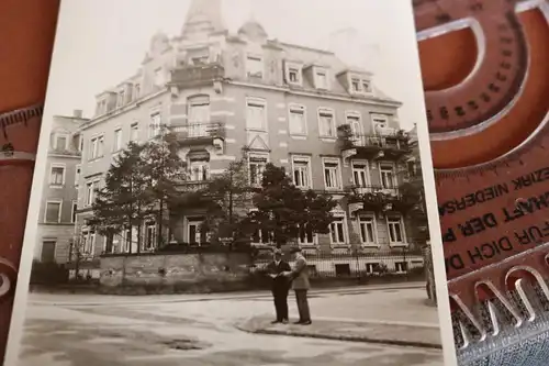
<path id="1" fill-rule="evenodd" d="M 67 12 L 67 3 L 63 1 L 59 5 L 58 21 L 56 25 L 56 33 L 59 34 L 59 30 L 66 29 L 65 22 L 68 21 L 69 13 Z M 413 14 L 412 2 L 408 1 L 408 12 Z M 417 32 L 410 32 L 411 40 L 403 42 L 415 42 L 417 43 Z M 61 45 L 58 42 L 58 37 L 54 43 L 52 53 L 52 64 L 49 69 L 49 81 L 56 80 L 58 73 L 64 71 L 63 58 L 60 53 L 64 52 Z M 419 54 L 418 47 L 416 46 L 416 63 L 404 63 L 407 67 L 415 67 L 416 71 L 414 75 L 417 77 L 418 85 L 423 86 Z M 405 58 L 403 58 L 405 59 Z M 48 82 L 46 96 L 53 95 L 54 85 Z M 422 106 L 423 114 L 426 117 L 426 107 Z M 43 195 L 43 180 L 46 174 L 47 163 L 47 151 L 49 145 L 49 134 L 52 132 L 52 124 L 54 111 L 51 110 L 51 103 L 48 103 L 48 98 L 45 100 L 44 117 L 42 119 L 42 126 L 40 132 L 40 141 L 36 152 L 36 162 L 34 166 L 32 189 L 29 201 L 27 217 L 25 222 L 24 240 L 21 251 L 21 259 L 19 264 L 18 282 L 16 289 L 13 298 L 13 310 L 10 321 L 10 333 L 5 343 L 5 355 L 4 365 L 16 365 L 19 362 L 19 353 L 21 350 L 21 341 L 23 336 L 23 324 L 26 315 L 27 309 L 27 298 L 29 298 L 29 281 L 31 278 L 32 269 L 32 258 L 34 256 L 34 247 L 36 241 L 36 232 L 38 225 L 38 212 L 41 206 L 41 199 Z M 438 321 L 440 328 L 441 343 L 442 343 L 442 354 L 444 354 L 444 365 L 445 366 L 457 366 L 457 354 L 456 346 L 453 343 L 453 330 L 451 326 L 448 287 L 445 269 L 445 257 L 441 241 L 441 230 L 438 215 L 438 203 L 436 197 L 436 185 L 435 175 L 433 168 L 433 159 L 430 154 L 429 144 L 429 132 L 427 127 L 426 118 L 417 123 L 417 140 L 419 144 L 419 156 L 423 167 L 423 179 L 425 189 L 425 200 L 427 206 L 427 217 L 429 221 L 429 234 L 430 234 L 430 245 L 432 255 L 434 263 L 435 273 L 435 284 L 437 293 L 437 310 L 438 310 Z"/>

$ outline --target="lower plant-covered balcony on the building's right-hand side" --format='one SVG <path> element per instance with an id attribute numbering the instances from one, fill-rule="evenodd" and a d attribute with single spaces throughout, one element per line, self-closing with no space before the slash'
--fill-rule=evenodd
<path id="1" fill-rule="evenodd" d="M 348 186 L 349 203 L 362 203 L 372 211 L 405 211 L 417 204 L 415 195 L 400 187 Z"/>

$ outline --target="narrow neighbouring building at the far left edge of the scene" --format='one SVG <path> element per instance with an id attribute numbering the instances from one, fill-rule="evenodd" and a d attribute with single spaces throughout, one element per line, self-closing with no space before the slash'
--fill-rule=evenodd
<path id="1" fill-rule="evenodd" d="M 77 185 L 80 170 L 79 129 L 87 122 L 81 111 L 54 115 L 47 152 L 46 176 L 38 213 L 34 258 L 42 263 L 67 263 L 75 235 Z"/>

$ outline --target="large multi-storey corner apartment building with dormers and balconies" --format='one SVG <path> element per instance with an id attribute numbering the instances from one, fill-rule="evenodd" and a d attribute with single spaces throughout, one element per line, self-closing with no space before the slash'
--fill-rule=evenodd
<path id="1" fill-rule="evenodd" d="M 244 151 L 253 181 L 271 162 L 285 167 L 296 186 L 333 195 L 339 204 L 330 234 L 305 234 L 299 240 L 304 247 L 406 247 L 413 240 L 399 204 L 399 171 L 406 169 L 410 151 L 400 106 L 376 87 L 372 74 L 335 54 L 272 40 L 255 21 L 232 34 L 221 0 L 194 0 L 180 34 L 155 34 L 141 68 L 98 95 L 96 114 L 82 125 L 77 231 L 85 252 L 136 252 L 135 231 L 109 242 L 86 218 L 116 153 L 130 141 L 156 136 L 161 125 L 178 133 L 194 184 L 223 171 Z M 352 136 L 343 138 L 347 130 Z M 362 199 L 380 192 L 388 202 Z M 177 218 L 171 240 L 203 241 L 202 214 L 195 209 Z M 153 249 L 155 223 L 142 235 L 141 251 Z M 268 244 L 261 235 L 254 241 Z"/>

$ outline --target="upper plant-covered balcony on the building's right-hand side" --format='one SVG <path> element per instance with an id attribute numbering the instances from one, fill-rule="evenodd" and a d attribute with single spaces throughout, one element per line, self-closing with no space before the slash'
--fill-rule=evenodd
<path id="1" fill-rule="evenodd" d="M 410 137 L 403 130 L 360 133 L 352 131 L 349 124 L 337 129 L 341 152 L 357 158 L 373 158 L 382 155 L 385 158 L 400 158 L 410 154 Z"/>

